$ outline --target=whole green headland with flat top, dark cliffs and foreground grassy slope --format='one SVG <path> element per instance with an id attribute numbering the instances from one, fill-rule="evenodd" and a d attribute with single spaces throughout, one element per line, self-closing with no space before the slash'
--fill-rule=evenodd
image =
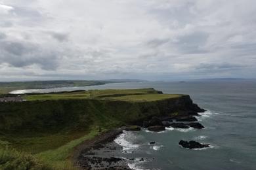
<path id="1" fill-rule="evenodd" d="M 171 123 L 194 121 L 193 116 L 204 111 L 189 95 L 163 94 L 153 88 L 20 97 L 22 101 L 0 102 L 3 169 L 90 169 L 88 162 L 81 161 L 81 152 L 96 141 L 113 140 L 123 129 L 203 128 L 198 123 Z"/>

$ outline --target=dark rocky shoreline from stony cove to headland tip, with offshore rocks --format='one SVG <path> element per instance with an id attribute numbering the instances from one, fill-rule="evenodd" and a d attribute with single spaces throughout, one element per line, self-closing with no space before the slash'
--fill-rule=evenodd
<path id="1" fill-rule="evenodd" d="M 204 128 L 203 125 L 197 122 L 198 120 L 195 117 L 200 116 L 198 112 L 205 112 L 205 110 L 193 104 L 190 105 L 188 110 L 179 112 L 180 114 L 177 115 L 152 116 L 139 123 L 135 122 L 135 126 L 120 127 L 101 133 L 94 139 L 77 146 L 74 152 L 75 166 L 79 169 L 131 169 L 129 163 L 132 163 L 135 159 L 144 161 L 146 158 L 132 158 L 131 154 L 123 153 L 122 146 L 114 141 L 118 135 L 123 133 L 124 130 L 139 131 L 141 128 L 154 132 L 165 131 L 166 127 L 202 129 Z M 154 141 L 148 141 L 148 143 L 153 144 Z M 194 141 L 181 140 L 179 144 L 184 148 L 207 147 L 207 145 L 194 143 Z"/>

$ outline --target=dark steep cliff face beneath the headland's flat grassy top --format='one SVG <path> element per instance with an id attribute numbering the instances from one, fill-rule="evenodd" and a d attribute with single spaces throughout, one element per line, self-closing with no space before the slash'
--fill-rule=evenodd
<path id="1" fill-rule="evenodd" d="M 147 102 L 72 99 L 0 103 L 0 133 L 117 127 L 140 124 L 152 116 L 202 111 L 189 95 Z"/>

